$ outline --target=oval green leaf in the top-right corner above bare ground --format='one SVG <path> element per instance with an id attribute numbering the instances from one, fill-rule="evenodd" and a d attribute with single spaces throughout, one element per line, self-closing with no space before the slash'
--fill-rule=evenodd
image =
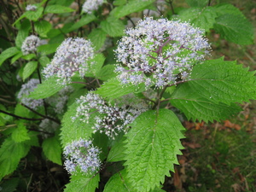
<path id="1" fill-rule="evenodd" d="M 220 15 L 214 29 L 225 39 L 235 44 L 253 44 L 253 26 L 241 15 Z"/>

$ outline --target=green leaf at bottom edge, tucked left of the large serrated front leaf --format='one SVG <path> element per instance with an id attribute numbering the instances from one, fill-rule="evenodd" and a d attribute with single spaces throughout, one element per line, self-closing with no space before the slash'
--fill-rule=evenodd
<path id="1" fill-rule="evenodd" d="M 127 192 L 135 191 L 131 187 L 131 183 L 128 183 L 126 170 L 115 173 L 112 177 L 109 178 L 108 183 L 106 183 L 103 192 Z"/>

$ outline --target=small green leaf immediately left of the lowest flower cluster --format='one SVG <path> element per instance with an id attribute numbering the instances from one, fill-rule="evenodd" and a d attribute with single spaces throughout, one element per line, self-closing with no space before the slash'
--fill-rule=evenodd
<path id="1" fill-rule="evenodd" d="M 55 137 L 50 137 L 44 140 L 42 148 L 47 159 L 52 162 L 62 165 L 61 161 L 61 143 Z"/>

